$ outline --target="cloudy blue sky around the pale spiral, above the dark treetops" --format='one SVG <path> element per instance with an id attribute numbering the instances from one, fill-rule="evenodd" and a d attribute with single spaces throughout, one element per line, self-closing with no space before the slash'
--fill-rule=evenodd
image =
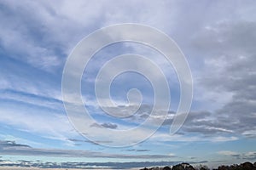
<path id="1" fill-rule="evenodd" d="M 256 161 L 255 10 L 253 0 L 1 1 L 0 162 L 188 161 L 214 166 Z M 176 71 L 154 48 L 137 42 L 102 48 L 84 69 L 84 108 L 97 122 L 87 130 L 97 140 L 86 139 L 70 122 L 64 104 L 74 99 L 71 96 L 63 103 L 61 94 L 68 56 L 90 33 L 122 23 L 164 32 L 187 59 L 193 100 L 177 133 L 169 133 L 181 95 Z M 97 74 L 109 59 L 121 54 L 143 55 L 159 65 L 171 95 L 166 117 L 158 109 L 148 127 L 136 135 L 127 133 L 125 139 L 113 138 L 102 129 L 121 131 L 147 120 L 154 106 L 154 88 L 147 77 L 125 72 L 113 79 L 109 90 L 117 108 L 104 107 L 131 114 L 137 105 L 127 105 L 126 94 L 132 88 L 140 90 L 142 105 L 135 114 L 123 118 L 108 115 L 99 107 Z M 141 64 L 116 68 L 146 65 Z M 142 142 L 113 147 L 139 140 L 163 118 L 157 131 Z"/>

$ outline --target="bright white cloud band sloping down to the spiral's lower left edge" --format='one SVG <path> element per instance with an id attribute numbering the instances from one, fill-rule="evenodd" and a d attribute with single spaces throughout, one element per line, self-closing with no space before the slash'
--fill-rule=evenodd
<path id="1" fill-rule="evenodd" d="M 1 108 L 0 122 L 21 131 L 34 133 L 48 139 L 59 139 L 66 142 L 68 137 L 78 136 L 68 122 L 66 115 L 51 111 L 37 111 L 29 107 L 17 110 Z M 29 114 L 27 113 L 29 112 Z"/>

